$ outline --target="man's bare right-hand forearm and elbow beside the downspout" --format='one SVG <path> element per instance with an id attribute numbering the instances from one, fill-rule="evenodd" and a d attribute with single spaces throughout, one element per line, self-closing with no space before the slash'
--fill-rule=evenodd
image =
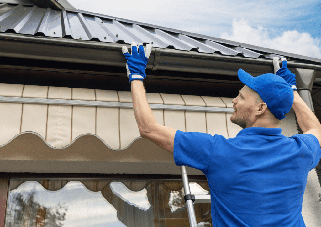
<path id="1" fill-rule="evenodd" d="M 312 134 L 321 144 L 321 124 L 317 117 L 305 104 L 297 91 L 293 91 L 294 100 L 292 108 L 297 116 L 299 126 L 304 134 Z"/>

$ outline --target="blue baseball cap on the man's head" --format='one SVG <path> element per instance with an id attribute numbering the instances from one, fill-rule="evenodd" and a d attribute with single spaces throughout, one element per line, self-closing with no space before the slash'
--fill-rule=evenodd
<path id="1" fill-rule="evenodd" d="M 282 77 L 267 73 L 252 77 L 243 69 L 239 69 L 238 77 L 243 84 L 256 91 L 266 103 L 269 110 L 280 120 L 293 105 L 293 89 Z"/>

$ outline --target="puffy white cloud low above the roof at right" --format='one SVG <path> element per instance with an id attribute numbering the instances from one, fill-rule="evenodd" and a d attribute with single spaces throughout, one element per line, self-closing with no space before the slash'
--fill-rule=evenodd
<path id="1" fill-rule="evenodd" d="M 248 20 L 234 19 L 231 33 L 223 32 L 220 38 L 321 59 L 321 39 L 296 30 L 273 34 L 273 29 L 251 27 Z"/>

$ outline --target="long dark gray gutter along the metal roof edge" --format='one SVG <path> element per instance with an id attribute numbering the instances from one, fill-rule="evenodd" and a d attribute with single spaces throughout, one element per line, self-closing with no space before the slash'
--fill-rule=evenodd
<path id="1" fill-rule="evenodd" d="M 123 44 L 0 33 L 0 46 L 2 57 L 126 67 L 126 59 L 121 52 Z M 321 82 L 319 65 L 288 61 L 288 67 L 290 70 L 313 69 L 316 75 L 314 82 Z M 274 72 L 273 60 L 158 48 L 152 49 L 147 69 L 227 76 L 237 76 L 239 69 L 253 76 Z"/>

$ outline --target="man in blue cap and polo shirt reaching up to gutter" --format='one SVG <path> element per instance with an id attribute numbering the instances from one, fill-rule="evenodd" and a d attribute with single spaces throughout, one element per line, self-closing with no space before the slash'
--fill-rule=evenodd
<path id="1" fill-rule="evenodd" d="M 239 70 L 245 86 L 232 100 L 235 111 L 230 120 L 243 130 L 225 139 L 159 125 L 142 82 L 151 46 L 145 54 L 143 45 L 133 42 L 132 54 L 125 46 L 123 53 L 141 136 L 173 153 L 176 165 L 206 175 L 213 226 L 305 226 L 303 193 L 308 172 L 321 158 L 321 125 L 300 98 L 286 61 L 281 69 L 275 61 L 280 76 L 252 77 Z M 304 134 L 286 137 L 279 126 L 291 107 Z"/>

